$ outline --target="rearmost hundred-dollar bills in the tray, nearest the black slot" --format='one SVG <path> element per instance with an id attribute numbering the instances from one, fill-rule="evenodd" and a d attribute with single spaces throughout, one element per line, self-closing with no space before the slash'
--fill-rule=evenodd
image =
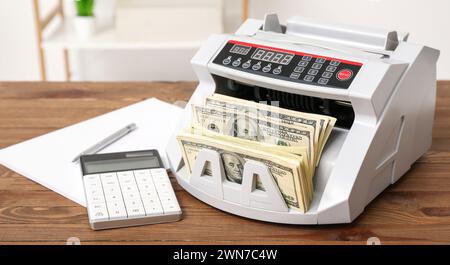
<path id="1" fill-rule="evenodd" d="M 211 108 L 220 107 L 227 110 L 249 112 L 258 117 L 265 116 L 268 119 L 279 120 L 279 122 L 284 124 L 303 124 L 312 126 L 315 129 L 314 146 L 317 148 L 317 152 L 315 152 L 316 165 L 319 162 L 323 147 L 336 123 L 334 117 L 287 110 L 272 105 L 260 104 L 220 94 L 213 94 L 212 96 L 206 97 L 204 105 Z"/>

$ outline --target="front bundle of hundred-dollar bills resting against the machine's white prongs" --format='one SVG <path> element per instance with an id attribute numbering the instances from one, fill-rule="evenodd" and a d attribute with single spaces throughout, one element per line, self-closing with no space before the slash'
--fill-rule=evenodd
<path id="1" fill-rule="evenodd" d="M 190 174 L 192 174 L 198 153 L 202 149 L 217 151 L 222 159 L 226 179 L 238 184 L 242 183 L 245 163 L 248 160 L 259 161 L 269 169 L 286 204 L 300 212 L 308 210 L 311 200 L 306 190 L 305 176 L 301 174 L 302 163 L 297 156 L 289 153 L 257 150 L 203 135 L 181 133 L 177 140 L 182 150 L 186 169 Z M 209 167 L 209 164 L 206 164 L 206 167 Z M 211 172 L 211 169 L 206 168 L 205 172 Z"/>

